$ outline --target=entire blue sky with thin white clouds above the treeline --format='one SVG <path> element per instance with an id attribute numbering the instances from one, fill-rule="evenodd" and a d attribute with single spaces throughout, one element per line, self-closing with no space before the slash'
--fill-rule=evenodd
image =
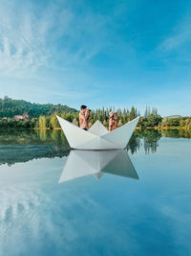
<path id="1" fill-rule="evenodd" d="M 1 0 L 5 95 L 191 115 L 191 1 Z"/>

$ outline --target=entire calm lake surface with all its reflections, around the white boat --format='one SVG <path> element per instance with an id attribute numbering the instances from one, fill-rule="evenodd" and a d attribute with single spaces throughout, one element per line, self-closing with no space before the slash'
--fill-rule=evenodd
<path id="1" fill-rule="evenodd" d="M 128 151 L 96 155 L 60 130 L 0 131 L 2 256 L 191 255 L 190 201 L 183 131 L 137 131 Z"/>

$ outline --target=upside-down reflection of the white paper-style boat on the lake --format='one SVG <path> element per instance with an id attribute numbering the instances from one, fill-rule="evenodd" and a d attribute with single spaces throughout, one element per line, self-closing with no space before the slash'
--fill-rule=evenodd
<path id="1" fill-rule="evenodd" d="M 86 175 L 99 179 L 105 173 L 138 179 L 126 150 L 70 151 L 59 183 Z"/>

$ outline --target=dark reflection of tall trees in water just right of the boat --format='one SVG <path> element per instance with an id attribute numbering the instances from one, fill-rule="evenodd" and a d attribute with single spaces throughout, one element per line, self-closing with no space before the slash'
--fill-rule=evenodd
<path id="1" fill-rule="evenodd" d="M 159 147 L 159 139 L 161 133 L 155 129 L 145 129 L 135 131 L 128 145 L 128 149 L 135 153 L 140 149 L 140 146 L 144 147 L 145 153 L 156 152 Z"/>

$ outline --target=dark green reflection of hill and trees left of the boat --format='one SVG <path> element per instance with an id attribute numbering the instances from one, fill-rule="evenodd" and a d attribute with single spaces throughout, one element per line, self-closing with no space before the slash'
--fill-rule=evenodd
<path id="1" fill-rule="evenodd" d="M 5 146 L 6 145 L 6 146 Z M 69 144 L 62 130 L 0 130 L 0 164 L 68 155 Z"/>

